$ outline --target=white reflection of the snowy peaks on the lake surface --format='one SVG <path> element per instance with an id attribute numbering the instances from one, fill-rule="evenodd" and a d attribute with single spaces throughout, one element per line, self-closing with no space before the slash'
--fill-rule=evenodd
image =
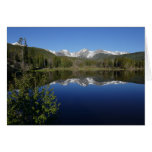
<path id="1" fill-rule="evenodd" d="M 103 81 L 103 82 L 98 82 L 94 78 L 88 77 L 88 78 L 72 78 L 72 79 L 67 79 L 67 80 L 57 80 L 54 82 L 51 82 L 50 85 L 59 83 L 61 85 L 68 85 L 69 83 L 76 83 L 80 86 L 88 86 L 88 85 L 114 85 L 114 84 L 126 84 L 126 82 L 123 81 Z"/>

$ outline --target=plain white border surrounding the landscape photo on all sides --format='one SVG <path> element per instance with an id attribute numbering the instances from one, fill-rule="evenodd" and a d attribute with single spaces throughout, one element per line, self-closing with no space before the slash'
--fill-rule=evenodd
<path id="1" fill-rule="evenodd" d="M 152 61 L 150 2 L 150 0 L 0 2 L 0 150 L 151 152 L 152 81 L 146 81 L 146 126 L 6 125 L 7 26 L 145 26 L 149 59 Z"/>

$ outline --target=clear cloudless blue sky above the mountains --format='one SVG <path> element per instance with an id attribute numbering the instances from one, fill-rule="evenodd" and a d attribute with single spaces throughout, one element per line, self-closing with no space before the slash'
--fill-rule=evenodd
<path id="1" fill-rule="evenodd" d="M 145 49 L 144 27 L 8 27 L 7 42 L 19 37 L 27 39 L 28 46 L 70 52 L 87 48 L 138 52 Z"/>

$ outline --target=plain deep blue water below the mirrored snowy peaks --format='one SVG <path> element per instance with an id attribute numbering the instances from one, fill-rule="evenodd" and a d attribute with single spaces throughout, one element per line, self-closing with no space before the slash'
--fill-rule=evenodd
<path id="1" fill-rule="evenodd" d="M 144 125 L 144 84 L 50 85 L 61 102 L 53 124 Z"/>

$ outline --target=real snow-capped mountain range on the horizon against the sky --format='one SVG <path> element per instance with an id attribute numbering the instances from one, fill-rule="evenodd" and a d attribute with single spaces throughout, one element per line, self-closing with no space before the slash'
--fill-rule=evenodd
<path id="1" fill-rule="evenodd" d="M 82 49 L 78 52 L 70 52 L 68 50 L 61 50 L 59 52 L 50 50 L 50 52 L 52 52 L 56 56 L 68 56 L 68 57 L 80 57 L 80 58 L 93 58 L 97 54 L 107 54 L 107 55 L 129 54 L 128 52 L 107 51 L 107 50 L 90 51 L 88 49 Z"/>

